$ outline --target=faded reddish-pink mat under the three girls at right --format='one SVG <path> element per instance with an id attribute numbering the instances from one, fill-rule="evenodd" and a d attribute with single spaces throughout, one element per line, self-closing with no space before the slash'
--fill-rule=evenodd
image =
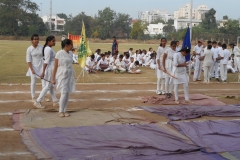
<path id="1" fill-rule="evenodd" d="M 172 98 L 166 98 L 165 95 L 162 96 L 140 96 L 143 103 L 159 104 L 159 105 L 176 105 L 174 96 Z M 194 105 L 198 106 L 224 106 L 225 103 L 214 99 L 212 97 L 202 95 L 202 94 L 190 94 L 190 100 Z M 189 105 L 185 102 L 184 95 L 179 96 L 180 105 Z"/>

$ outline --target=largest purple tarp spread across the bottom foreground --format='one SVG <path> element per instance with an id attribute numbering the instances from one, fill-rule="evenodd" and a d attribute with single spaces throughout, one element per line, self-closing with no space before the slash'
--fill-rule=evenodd
<path id="1" fill-rule="evenodd" d="M 194 159 L 196 155 L 199 159 L 219 158 L 218 155 L 194 153 L 200 152 L 200 147 L 154 124 L 32 129 L 23 130 L 21 137 L 38 159 L 147 160 L 163 157 L 185 160 Z"/>

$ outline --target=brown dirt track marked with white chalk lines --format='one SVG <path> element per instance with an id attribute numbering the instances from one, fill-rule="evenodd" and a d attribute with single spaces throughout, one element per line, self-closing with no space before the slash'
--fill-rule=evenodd
<path id="1" fill-rule="evenodd" d="M 190 84 L 191 93 L 200 93 L 218 98 L 227 104 L 239 104 L 239 100 L 224 98 L 225 95 L 240 96 L 240 84 Z M 40 91 L 37 86 L 37 91 Z M 135 106 L 156 106 L 144 104 L 138 96 L 156 96 L 154 84 L 79 84 L 77 92 L 70 95 L 69 108 L 126 108 Z M 182 89 L 182 88 L 180 88 Z M 182 92 L 182 90 L 181 90 Z M 39 95 L 39 92 L 37 93 Z M 50 97 L 48 95 L 48 97 Z M 57 94 L 60 97 L 60 94 Z M 51 102 L 43 102 L 47 108 L 53 108 Z M 19 131 L 12 129 L 11 113 L 16 109 L 34 109 L 30 98 L 29 85 L 0 85 L 0 159 L 36 159 L 22 144 Z M 167 122 L 168 119 L 145 111 L 135 114 L 149 120 Z M 71 117 L 70 117 L 71 118 Z M 203 119 L 236 119 L 202 117 Z M 199 119 L 196 119 L 199 120 Z"/>

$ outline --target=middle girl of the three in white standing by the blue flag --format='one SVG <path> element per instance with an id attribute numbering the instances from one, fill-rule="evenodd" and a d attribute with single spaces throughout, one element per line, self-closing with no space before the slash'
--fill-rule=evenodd
<path id="1" fill-rule="evenodd" d="M 173 70 L 173 56 L 176 53 L 177 42 L 172 41 L 171 47 L 165 51 L 163 55 L 163 69 L 164 72 L 172 74 Z M 173 83 L 170 83 L 171 77 L 168 74 L 165 74 L 165 90 L 166 98 L 172 97 Z"/>

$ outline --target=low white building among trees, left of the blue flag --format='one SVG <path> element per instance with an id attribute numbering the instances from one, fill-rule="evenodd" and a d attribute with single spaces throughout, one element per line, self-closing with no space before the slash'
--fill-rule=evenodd
<path id="1" fill-rule="evenodd" d="M 147 30 L 144 31 L 144 34 L 149 34 L 150 36 L 155 36 L 159 34 L 164 34 L 163 27 L 166 24 L 158 23 L 158 24 L 149 24 L 147 26 Z"/>

